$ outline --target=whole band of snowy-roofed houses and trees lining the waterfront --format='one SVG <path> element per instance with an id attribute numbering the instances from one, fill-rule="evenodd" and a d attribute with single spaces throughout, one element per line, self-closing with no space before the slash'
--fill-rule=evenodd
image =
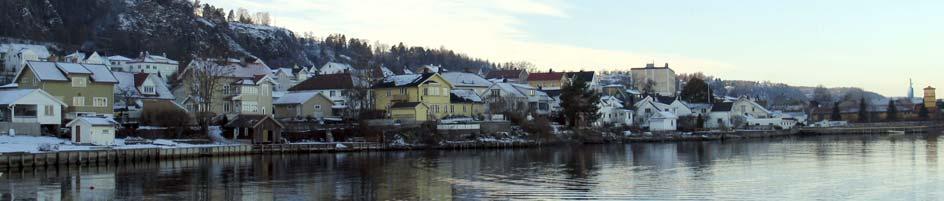
<path id="1" fill-rule="evenodd" d="M 0 132 L 59 138 L 69 146 L 566 141 L 796 132 L 930 121 L 942 113 L 931 86 L 923 97 L 910 86 L 907 97 L 887 103 L 864 96 L 852 103 L 820 101 L 839 99 L 817 88 L 814 101 L 774 110 L 757 97 L 719 96 L 725 93 L 713 91 L 704 77 L 682 79 L 669 63 L 615 72 L 450 71 L 432 64 L 395 72 L 337 62 L 272 67 L 252 57 L 181 64 L 149 51 L 58 56 L 30 44 L 0 45 L 0 63 L 7 81 L 0 90 Z M 41 143 L 34 145 L 19 151 L 39 151 L 33 149 Z"/>

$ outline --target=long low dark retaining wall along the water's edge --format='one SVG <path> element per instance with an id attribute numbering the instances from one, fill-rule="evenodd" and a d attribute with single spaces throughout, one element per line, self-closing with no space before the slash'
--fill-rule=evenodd
<path id="1" fill-rule="evenodd" d="M 807 128 L 784 131 L 732 131 L 699 132 L 691 134 L 672 133 L 651 136 L 627 136 L 600 141 L 514 141 L 514 142 L 453 142 L 436 146 L 387 145 L 372 142 L 299 143 L 267 145 L 218 145 L 195 147 L 156 147 L 69 150 L 56 152 L 7 152 L 0 153 L 0 171 L 57 166 L 95 166 L 124 164 L 144 161 L 177 160 L 204 157 L 278 155 L 343 152 L 386 152 L 413 150 L 464 150 L 464 149 L 515 149 L 544 147 L 563 144 L 620 144 L 645 142 L 726 141 L 815 135 L 864 135 L 887 134 L 889 130 L 903 130 L 908 134 L 929 133 L 944 128 L 942 125 L 910 127 L 860 127 L 860 128 Z"/>

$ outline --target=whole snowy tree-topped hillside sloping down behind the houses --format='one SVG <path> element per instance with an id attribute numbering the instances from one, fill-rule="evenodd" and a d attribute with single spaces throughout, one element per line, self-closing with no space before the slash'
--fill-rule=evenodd
<path id="1" fill-rule="evenodd" d="M 166 52 L 181 63 L 195 56 L 255 56 L 272 67 L 320 66 L 329 61 L 356 68 L 387 66 L 394 71 L 425 64 L 450 70 L 494 67 L 489 61 L 443 48 L 402 43 L 375 47 L 379 43 L 328 34 L 330 30 L 299 36 L 265 25 L 268 22 L 233 15 L 233 11 L 195 6 L 188 0 L 0 1 L 4 19 L 0 36 L 52 42 L 63 51 L 60 55 L 75 50 L 131 57 L 141 51 Z"/>

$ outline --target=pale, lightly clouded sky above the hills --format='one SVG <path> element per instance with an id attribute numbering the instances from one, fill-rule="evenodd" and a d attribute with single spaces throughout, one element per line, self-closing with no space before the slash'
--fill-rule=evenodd
<path id="1" fill-rule="evenodd" d="M 677 73 L 902 97 L 944 86 L 944 1 L 203 0 L 324 37 L 445 47 L 538 69 Z"/>

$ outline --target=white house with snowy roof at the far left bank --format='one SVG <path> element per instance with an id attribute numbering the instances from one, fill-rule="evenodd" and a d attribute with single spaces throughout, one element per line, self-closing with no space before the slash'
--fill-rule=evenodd
<path id="1" fill-rule="evenodd" d="M 0 90 L 0 129 L 9 129 L 4 125 L 10 126 L 10 123 L 25 123 L 38 124 L 39 128 L 53 133 L 62 124 L 62 109 L 66 107 L 65 102 L 42 89 Z M 41 134 L 33 132 L 28 134 Z"/>

